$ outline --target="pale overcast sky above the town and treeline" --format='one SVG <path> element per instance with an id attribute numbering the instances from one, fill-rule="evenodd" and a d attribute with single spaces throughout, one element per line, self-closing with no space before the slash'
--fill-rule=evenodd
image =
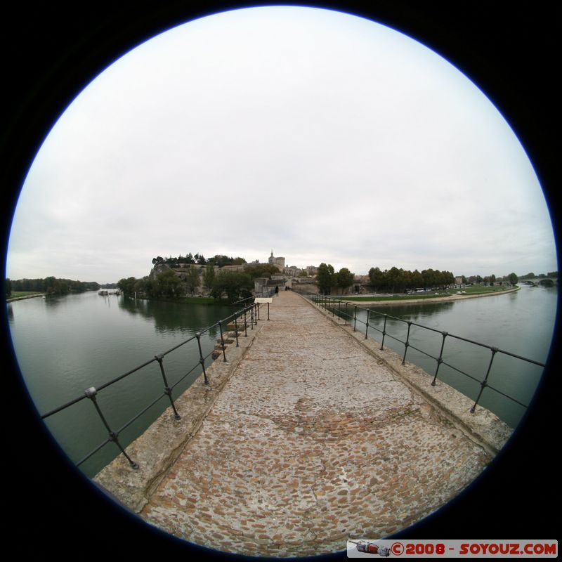
<path id="1" fill-rule="evenodd" d="M 556 270 L 532 166 L 463 74 L 351 15 L 176 27 L 82 91 L 27 176 L 8 277 L 117 282 L 200 252 L 338 270 Z"/>

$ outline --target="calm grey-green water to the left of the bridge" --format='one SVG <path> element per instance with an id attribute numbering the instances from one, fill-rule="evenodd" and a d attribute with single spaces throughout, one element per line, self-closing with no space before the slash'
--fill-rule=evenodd
<path id="1" fill-rule="evenodd" d="M 99 388 L 232 313 L 229 306 L 135 301 L 96 292 L 8 303 L 15 354 L 39 414 L 83 396 L 86 388 Z M 218 337 L 218 328 L 202 336 L 204 355 L 212 351 Z M 196 340 L 166 355 L 164 368 L 169 384 L 172 386 L 197 365 L 199 357 Z M 174 398 L 201 372 L 197 366 L 178 384 Z M 153 362 L 101 390 L 97 400 L 115 431 L 163 390 L 162 374 Z M 119 435 L 120 443 L 131 443 L 167 406 L 167 398 L 159 400 Z M 45 422 L 73 462 L 79 462 L 107 438 L 90 400 L 81 400 Z M 93 476 L 117 454 L 116 445 L 108 443 L 80 468 Z"/>

